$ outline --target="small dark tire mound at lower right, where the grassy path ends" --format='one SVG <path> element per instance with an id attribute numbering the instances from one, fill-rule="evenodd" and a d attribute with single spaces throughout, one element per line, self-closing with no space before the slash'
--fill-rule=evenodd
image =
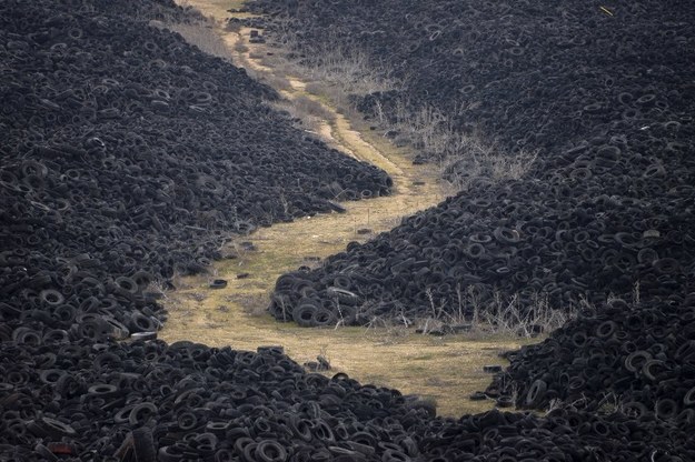
<path id="1" fill-rule="evenodd" d="M 512 365 L 488 388 L 516 394 L 516 405 L 546 409 L 553 400 L 635 419 L 695 424 L 695 295 L 628 304 L 617 299 L 509 353 Z"/>

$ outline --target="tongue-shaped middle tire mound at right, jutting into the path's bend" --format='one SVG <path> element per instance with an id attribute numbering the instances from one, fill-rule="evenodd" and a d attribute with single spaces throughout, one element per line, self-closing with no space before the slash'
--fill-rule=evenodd
<path id="1" fill-rule="evenodd" d="M 566 309 L 629 295 L 635 284 L 652 297 L 693 283 L 689 192 L 675 192 L 674 182 L 652 200 L 646 191 L 617 195 L 618 177 L 603 177 L 604 189 L 560 178 L 447 199 L 370 242 L 349 244 L 316 270 L 282 275 L 270 312 L 302 325 L 359 324 L 427 318 L 433 305 L 468 318 L 497 301 L 525 315 L 545 300 Z"/>

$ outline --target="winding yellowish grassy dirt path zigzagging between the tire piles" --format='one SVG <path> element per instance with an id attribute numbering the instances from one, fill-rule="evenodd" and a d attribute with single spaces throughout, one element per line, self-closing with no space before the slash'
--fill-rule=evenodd
<path id="1" fill-rule="evenodd" d="M 239 3 L 188 1 L 219 24 L 230 16 L 227 10 L 239 8 Z M 308 93 L 298 77 L 281 74 L 280 70 L 252 59 L 267 50 L 248 43 L 249 30 L 237 33 L 218 27 L 217 32 L 237 66 L 289 81 L 290 86 L 280 92 L 290 104 L 301 99 L 321 104 L 320 112 L 328 117 L 315 118 L 311 131 L 336 149 L 387 171 L 394 179 L 395 192 L 388 198 L 345 202 L 347 212 L 342 214 L 274 224 L 234 242 L 225 251 L 235 258 L 216 263 L 212 274 L 176 281 L 178 290 L 167 293 L 165 300 L 170 315 L 160 338 L 168 342 L 193 340 L 242 350 L 281 344 L 298 362 L 316 360 L 321 354 L 334 366 L 329 373 L 341 371 L 363 383 L 434 399 L 440 414 L 454 416 L 490 409 L 492 402 L 471 402 L 467 396 L 489 382 L 481 366 L 502 364 L 497 353 L 518 348 L 519 339 L 435 338 L 405 328 L 301 329 L 294 323 L 276 322 L 265 313 L 280 274 L 300 265 L 319 264 L 320 259 L 344 251 L 350 241 L 363 242 L 387 231 L 404 215 L 439 202 L 443 193 L 436 174 L 413 165 L 405 150 L 376 135 L 361 120 L 348 120 L 324 99 Z M 245 47 L 237 46 L 240 40 Z M 228 281 L 227 288 L 210 290 L 210 281 L 218 278 Z"/>

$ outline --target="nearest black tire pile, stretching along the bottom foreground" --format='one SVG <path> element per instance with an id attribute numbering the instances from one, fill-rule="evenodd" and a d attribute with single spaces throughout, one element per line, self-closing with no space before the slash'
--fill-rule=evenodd
<path id="1" fill-rule="evenodd" d="M 305 372 L 280 348 L 54 342 L 0 350 L 3 461 L 687 461 L 654 419 L 556 410 L 434 419 L 395 390 Z"/>

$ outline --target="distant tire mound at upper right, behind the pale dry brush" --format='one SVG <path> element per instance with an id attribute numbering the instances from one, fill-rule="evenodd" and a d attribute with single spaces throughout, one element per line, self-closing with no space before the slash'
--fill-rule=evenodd
<path id="1" fill-rule="evenodd" d="M 357 4 L 356 4 L 357 3 Z M 600 6 L 589 1 L 257 0 L 270 13 L 266 38 L 287 38 L 307 57 L 326 43 L 358 50 L 404 80 L 375 93 L 384 114 L 397 103 L 451 116 L 505 149 L 552 157 L 583 140 L 654 122 L 692 123 L 687 56 L 695 11 L 685 1 Z M 414 72 L 413 70 L 417 70 Z"/>

